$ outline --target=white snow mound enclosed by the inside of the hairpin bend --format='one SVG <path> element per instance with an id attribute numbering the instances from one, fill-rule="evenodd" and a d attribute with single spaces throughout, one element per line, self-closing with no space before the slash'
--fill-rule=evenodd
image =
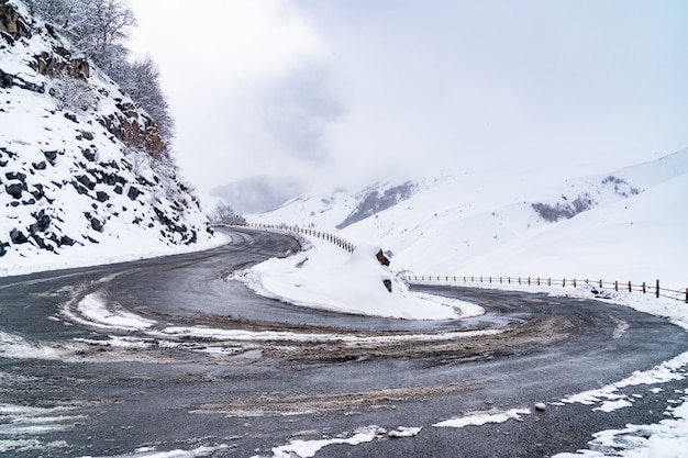
<path id="1" fill-rule="evenodd" d="M 288 258 L 273 258 L 233 278 L 263 295 L 298 305 L 342 313 L 409 320 L 452 320 L 484 313 L 477 305 L 409 291 L 376 259 L 379 247 L 359 245 L 349 254 L 309 237 L 312 248 Z M 390 280 L 392 292 L 382 280 Z"/>

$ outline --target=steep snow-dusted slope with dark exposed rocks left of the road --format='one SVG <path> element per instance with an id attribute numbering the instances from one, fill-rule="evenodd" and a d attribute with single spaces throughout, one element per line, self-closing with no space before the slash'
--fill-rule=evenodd
<path id="1" fill-rule="evenodd" d="M 0 264 L 212 230 L 155 122 L 19 1 L 0 0 Z M 123 241 L 123 238 L 122 238 Z"/>

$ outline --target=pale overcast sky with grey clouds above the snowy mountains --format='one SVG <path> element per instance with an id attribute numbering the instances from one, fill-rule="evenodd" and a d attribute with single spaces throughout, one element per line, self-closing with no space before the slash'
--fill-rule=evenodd
<path id="1" fill-rule="evenodd" d="M 130 4 L 201 194 L 257 175 L 568 178 L 688 147 L 683 0 Z"/>

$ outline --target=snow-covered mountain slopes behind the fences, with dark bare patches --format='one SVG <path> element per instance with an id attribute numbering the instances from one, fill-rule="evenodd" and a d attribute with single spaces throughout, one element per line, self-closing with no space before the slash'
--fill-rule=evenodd
<path id="1" fill-rule="evenodd" d="M 384 189 L 395 186 L 387 183 Z M 398 270 L 688 284 L 688 149 L 555 187 L 536 179 L 443 175 L 341 231 L 367 192 L 309 196 L 249 222 L 333 232 L 393 254 Z M 377 196 L 384 196 L 382 189 Z"/>

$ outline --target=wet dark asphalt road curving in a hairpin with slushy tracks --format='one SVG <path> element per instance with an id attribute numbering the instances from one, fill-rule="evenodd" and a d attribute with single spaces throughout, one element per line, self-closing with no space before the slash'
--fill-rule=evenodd
<path id="1" fill-rule="evenodd" d="M 399 321 L 296 308 L 256 297 L 228 276 L 288 256 L 298 243 L 248 230 L 232 236 L 234 243 L 204 253 L 0 278 L 0 454 L 106 457 L 203 446 L 218 447 L 210 456 L 270 457 L 292 439 L 349 437 L 379 425 L 423 429 L 331 445 L 315 456 L 546 457 L 586 447 L 597 431 L 656 423 L 674 390 L 687 388 L 685 380 L 662 383 L 657 393 L 630 387 L 621 392 L 642 398 L 611 414 L 553 405 L 686 351 L 688 334 L 593 300 L 468 288 L 417 287 L 476 302 L 484 316 Z M 155 324 L 122 331 L 65 315 L 65 304 L 95 291 L 112 310 Z M 237 342 L 160 335 L 168 326 L 404 338 L 357 346 L 325 337 Z M 418 337 L 475 329 L 504 333 Z M 22 356 L 26 349 L 31 358 Z M 548 403 L 546 411 L 535 412 L 536 402 Z M 12 416 L 12 409 L 23 413 Z M 511 409 L 532 413 L 521 422 L 433 426 Z"/>

